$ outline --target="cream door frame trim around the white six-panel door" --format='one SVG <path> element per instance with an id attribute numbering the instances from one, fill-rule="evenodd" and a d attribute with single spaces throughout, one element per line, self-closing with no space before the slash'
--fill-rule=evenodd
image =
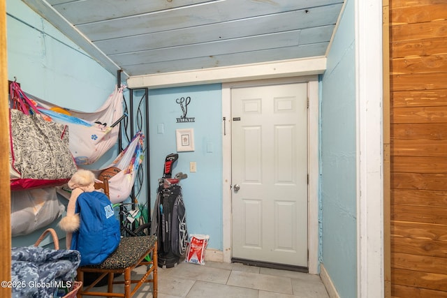
<path id="1" fill-rule="evenodd" d="M 289 77 L 272 80 L 247 82 L 230 82 L 222 84 L 222 156 L 223 156 L 223 188 L 222 188 L 222 227 L 223 227 L 223 262 L 231 262 L 231 89 L 240 87 L 257 87 L 272 84 L 291 84 L 307 82 L 309 108 L 307 110 L 307 170 L 309 184 L 307 186 L 308 241 L 307 249 L 309 274 L 318 274 L 319 227 L 318 227 L 318 181 L 319 181 L 319 96 L 318 76 Z"/>

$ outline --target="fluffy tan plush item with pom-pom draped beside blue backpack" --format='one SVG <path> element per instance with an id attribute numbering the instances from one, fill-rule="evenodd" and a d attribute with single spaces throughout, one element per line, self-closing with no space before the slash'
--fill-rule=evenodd
<path id="1" fill-rule="evenodd" d="M 61 230 L 66 232 L 66 248 L 70 249 L 73 232 L 80 227 L 79 214 L 75 214 L 76 200 L 81 193 L 89 193 L 95 190 L 95 176 L 89 170 L 78 170 L 68 181 L 68 187 L 72 189 L 70 200 L 68 201 L 67 214 L 59 222 Z"/>

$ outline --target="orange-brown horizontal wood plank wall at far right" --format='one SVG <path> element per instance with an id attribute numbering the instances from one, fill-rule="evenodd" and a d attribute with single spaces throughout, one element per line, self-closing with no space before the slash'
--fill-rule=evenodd
<path id="1" fill-rule="evenodd" d="M 389 0 L 390 292 L 447 297 L 447 1 Z"/>

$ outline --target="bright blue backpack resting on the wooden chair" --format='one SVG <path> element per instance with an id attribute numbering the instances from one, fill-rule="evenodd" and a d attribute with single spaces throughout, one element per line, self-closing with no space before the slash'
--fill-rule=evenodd
<path id="1" fill-rule="evenodd" d="M 71 249 L 80 252 L 80 266 L 101 264 L 117 249 L 121 239 L 110 200 L 98 191 L 81 193 L 75 213 L 80 215 L 80 227 L 73 232 Z"/>

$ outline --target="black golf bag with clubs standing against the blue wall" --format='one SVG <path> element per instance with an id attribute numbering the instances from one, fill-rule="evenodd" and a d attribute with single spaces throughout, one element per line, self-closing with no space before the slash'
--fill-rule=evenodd
<path id="1" fill-rule="evenodd" d="M 165 167 L 163 178 L 159 179 L 151 223 L 151 234 L 155 234 L 158 241 L 157 260 L 161 268 L 171 268 L 179 264 L 180 257 L 184 255 L 188 245 L 182 187 L 178 184 L 178 174 L 177 178 L 166 178 L 166 174 L 170 177 L 173 165 L 168 158 L 166 163 L 170 163 L 170 169 L 167 173 Z"/>

